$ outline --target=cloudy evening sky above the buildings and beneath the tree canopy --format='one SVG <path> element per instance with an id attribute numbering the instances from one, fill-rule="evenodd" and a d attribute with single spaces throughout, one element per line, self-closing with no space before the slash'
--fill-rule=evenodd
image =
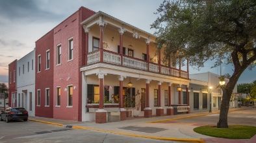
<path id="1" fill-rule="evenodd" d="M 8 82 L 8 64 L 19 60 L 35 47 L 35 41 L 57 26 L 81 6 L 102 11 L 126 23 L 153 34 L 150 25 L 157 19 L 162 0 L 0 0 L 0 82 Z M 205 67 L 189 67 L 190 74 L 213 72 L 220 74 L 220 66 L 211 69 L 213 61 Z M 184 69 L 185 68 L 185 69 Z M 183 67 L 186 71 L 186 67 Z M 232 74 L 232 65 L 222 64 L 222 74 Z M 256 80 L 256 68 L 246 70 L 238 83 Z"/>

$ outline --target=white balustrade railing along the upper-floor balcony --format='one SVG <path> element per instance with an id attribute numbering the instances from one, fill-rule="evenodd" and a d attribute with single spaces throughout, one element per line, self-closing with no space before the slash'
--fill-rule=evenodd
<path id="1" fill-rule="evenodd" d="M 99 61 L 99 50 L 87 54 L 87 65 L 92 65 L 94 63 L 98 63 Z M 122 56 L 119 53 L 109 50 L 103 50 L 103 62 L 188 79 L 188 72 L 186 71 L 179 71 L 179 69 L 174 69 L 165 65 L 159 65 L 157 63 L 147 63 L 145 60 L 140 60 L 138 58 L 133 58 L 126 55 Z M 149 64 L 149 69 L 147 69 L 147 64 Z"/>

